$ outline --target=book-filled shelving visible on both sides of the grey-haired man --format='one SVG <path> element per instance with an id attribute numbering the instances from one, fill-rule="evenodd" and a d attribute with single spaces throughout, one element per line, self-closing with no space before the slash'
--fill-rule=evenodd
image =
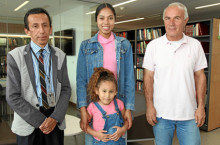
<path id="1" fill-rule="evenodd" d="M 133 43 L 136 97 L 143 94 L 143 58 L 147 44 L 165 34 L 164 26 L 130 30 Z M 201 42 L 208 62 L 205 75 L 207 80 L 205 111 L 206 119 L 202 130 L 211 131 L 220 127 L 220 19 L 207 19 L 188 22 L 185 34 Z M 122 35 L 123 32 L 120 32 Z M 128 34 L 127 34 L 128 35 Z"/>

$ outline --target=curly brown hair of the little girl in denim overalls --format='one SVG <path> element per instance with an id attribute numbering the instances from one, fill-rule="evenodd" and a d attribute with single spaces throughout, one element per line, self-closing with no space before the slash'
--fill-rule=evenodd
<path id="1" fill-rule="evenodd" d="M 116 91 L 118 90 L 117 81 L 115 79 L 114 73 L 103 67 L 94 68 L 94 73 L 91 76 L 88 84 L 88 94 L 92 101 L 98 101 L 99 96 L 96 94 L 95 89 L 99 88 L 102 81 L 111 81 L 116 86 Z"/>

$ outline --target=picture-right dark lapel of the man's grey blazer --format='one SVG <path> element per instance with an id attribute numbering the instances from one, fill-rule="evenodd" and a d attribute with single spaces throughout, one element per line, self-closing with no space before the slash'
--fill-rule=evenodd
<path id="1" fill-rule="evenodd" d="M 57 55 L 56 51 L 53 47 L 49 46 L 51 48 L 51 56 L 52 56 L 52 70 L 53 70 L 53 86 L 54 86 L 54 92 L 56 94 L 57 91 Z"/>

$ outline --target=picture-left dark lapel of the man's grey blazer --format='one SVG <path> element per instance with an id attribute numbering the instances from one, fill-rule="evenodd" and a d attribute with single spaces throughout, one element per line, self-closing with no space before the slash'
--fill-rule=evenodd
<path id="1" fill-rule="evenodd" d="M 35 74 L 34 74 L 34 66 L 33 66 L 33 61 L 32 61 L 32 55 L 31 55 L 31 49 L 30 49 L 30 44 L 28 44 L 25 48 L 25 54 L 24 54 L 25 62 L 27 65 L 27 70 L 29 73 L 29 77 L 34 89 L 34 92 L 37 96 L 37 90 L 36 90 L 36 83 L 35 83 Z"/>

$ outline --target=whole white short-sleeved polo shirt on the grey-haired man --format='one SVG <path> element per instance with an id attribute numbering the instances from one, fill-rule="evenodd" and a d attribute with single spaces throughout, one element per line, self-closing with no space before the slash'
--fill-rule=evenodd
<path id="1" fill-rule="evenodd" d="M 153 101 L 157 117 L 169 120 L 195 118 L 194 72 L 206 67 L 201 43 L 184 34 L 176 48 L 166 34 L 147 45 L 143 68 L 154 72 Z"/>

